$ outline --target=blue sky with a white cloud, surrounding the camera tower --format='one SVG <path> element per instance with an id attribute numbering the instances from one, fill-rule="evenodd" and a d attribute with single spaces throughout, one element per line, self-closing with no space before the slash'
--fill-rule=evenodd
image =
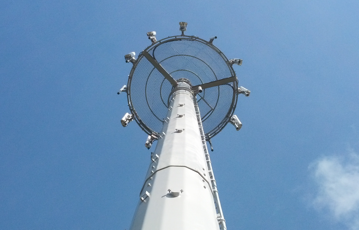
<path id="1" fill-rule="evenodd" d="M 0 226 L 128 229 L 150 159 L 131 64 L 187 35 L 230 58 L 243 123 L 212 139 L 231 229 L 359 229 L 358 1 L 2 1 Z"/>

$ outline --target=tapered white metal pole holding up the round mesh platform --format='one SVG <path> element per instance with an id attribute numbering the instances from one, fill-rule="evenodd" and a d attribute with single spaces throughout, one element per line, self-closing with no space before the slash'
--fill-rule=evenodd
<path id="1" fill-rule="evenodd" d="M 178 82 L 130 230 L 219 230 L 224 221 L 193 99 L 190 85 Z"/>

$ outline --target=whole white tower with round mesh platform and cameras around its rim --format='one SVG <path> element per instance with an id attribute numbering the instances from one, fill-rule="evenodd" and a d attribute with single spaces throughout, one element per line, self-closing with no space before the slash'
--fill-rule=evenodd
<path id="1" fill-rule="evenodd" d="M 238 87 L 233 64 L 209 41 L 187 36 L 186 22 L 180 22 L 181 36 L 158 40 L 147 33 L 152 44 L 135 58 L 125 55 L 132 69 L 127 86 L 131 114 L 123 126 L 135 120 L 149 136 L 149 149 L 158 140 L 140 192 L 130 230 L 201 229 L 226 230 L 222 207 L 206 141 L 228 123 L 237 130 L 241 121 L 233 115 L 238 94 L 250 91 Z"/>

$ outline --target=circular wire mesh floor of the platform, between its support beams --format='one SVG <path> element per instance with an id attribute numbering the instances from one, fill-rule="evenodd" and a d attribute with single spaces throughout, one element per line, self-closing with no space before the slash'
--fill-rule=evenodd
<path id="1" fill-rule="evenodd" d="M 172 38 L 149 47 L 148 53 L 175 79 L 186 78 L 192 86 L 234 76 L 227 58 L 207 42 L 195 38 Z M 196 96 L 206 137 L 228 122 L 237 95 L 237 83 L 203 89 Z M 129 102 L 137 121 L 149 133 L 160 133 L 168 111 L 171 83 L 142 55 L 132 68 Z"/>

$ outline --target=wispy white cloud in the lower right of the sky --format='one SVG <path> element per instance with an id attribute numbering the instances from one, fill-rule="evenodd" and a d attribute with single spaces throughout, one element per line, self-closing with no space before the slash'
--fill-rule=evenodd
<path id="1" fill-rule="evenodd" d="M 323 157 L 312 164 L 318 193 L 313 204 L 336 221 L 359 230 L 359 155 Z"/>

